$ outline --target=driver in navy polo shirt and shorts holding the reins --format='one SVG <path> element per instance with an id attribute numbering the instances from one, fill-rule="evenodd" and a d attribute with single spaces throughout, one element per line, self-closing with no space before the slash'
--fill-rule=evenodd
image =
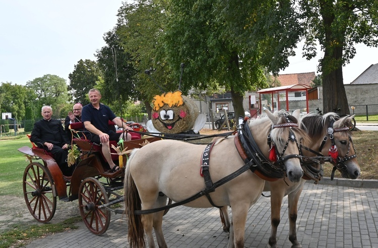
<path id="1" fill-rule="evenodd" d="M 130 128 L 125 127 L 122 120 L 117 118 L 108 106 L 100 103 L 101 93 L 98 89 L 89 90 L 88 97 L 91 103 L 83 107 L 82 122 L 85 128 L 92 133 L 91 140 L 102 144 L 102 154 L 108 162 L 111 172 L 116 172 L 119 170 L 119 166 L 115 165 L 111 159 L 109 141 L 118 141 L 120 138 L 131 140 L 131 134 L 115 133 L 109 129 L 108 121 L 113 121 L 118 127 Z"/>

